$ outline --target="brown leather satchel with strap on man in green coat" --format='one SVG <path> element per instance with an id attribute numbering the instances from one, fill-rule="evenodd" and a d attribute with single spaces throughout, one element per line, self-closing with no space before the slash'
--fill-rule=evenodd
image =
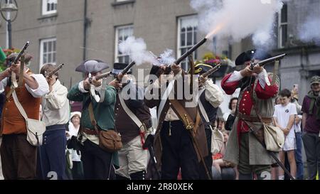
<path id="1" fill-rule="evenodd" d="M 122 149 L 122 140 L 120 134 L 114 130 L 98 130 L 97 122 L 95 120 L 95 115 L 93 114 L 92 102 L 90 102 L 89 107 L 90 120 L 93 126 L 95 126 L 95 131 L 97 131 L 99 146 L 101 149 L 108 152 L 115 152 Z"/>

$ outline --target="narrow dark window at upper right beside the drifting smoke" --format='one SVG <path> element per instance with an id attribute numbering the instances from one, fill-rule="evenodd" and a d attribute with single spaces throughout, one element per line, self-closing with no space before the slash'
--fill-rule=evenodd
<path id="1" fill-rule="evenodd" d="M 278 47 L 284 48 L 288 38 L 288 11 L 287 4 L 282 6 L 278 16 Z"/>

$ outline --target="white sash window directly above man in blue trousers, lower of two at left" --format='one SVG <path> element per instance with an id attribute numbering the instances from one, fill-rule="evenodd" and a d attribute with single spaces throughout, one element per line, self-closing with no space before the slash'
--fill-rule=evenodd
<path id="1" fill-rule="evenodd" d="M 55 65 L 57 53 L 56 38 L 48 38 L 40 41 L 40 68 L 46 64 L 51 63 Z"/>

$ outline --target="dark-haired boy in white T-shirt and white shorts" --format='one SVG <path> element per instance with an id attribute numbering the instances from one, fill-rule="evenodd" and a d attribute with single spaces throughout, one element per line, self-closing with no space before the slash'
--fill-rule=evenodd
<path id="1" fill-rule="evenodd" d="M 274 106 L 274 123 L 279 126 L 284 132 L 285 140 L 283 151 L 279 152 L 279 158 L 284 163 L 284 154 L 287 152 L 290 173 L 293 177 L 296 176 L 297 166 L 294 158 L 295 135 L 294 135 L 294 116 L 297 114 L 297 109 L 294 104 L 290 103 L 291 92 L 284 89 L 279 92 L 280 104 Z M 284 179 L 284 171 L 279 168 L 279 180 Z"/>

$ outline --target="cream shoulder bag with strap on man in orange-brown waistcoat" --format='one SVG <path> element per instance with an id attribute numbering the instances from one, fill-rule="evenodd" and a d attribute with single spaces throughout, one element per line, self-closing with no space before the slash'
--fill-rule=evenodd
<path id="1" fill-rule="evenodd" d="M 16 96 L 16 91 L 12 93 L 12 97 L 14 97 L 14 103 L 16 103 L 16 107 L 19 112 L 26 120 L 26 129 L 27 129 L 27 141 L 32 146 L 41 146 L 43 133 L 46 131 L 46 124 L 36 119 L 29 119 L 25 110 L 23 109 L 21 103 L 18 101 L 18 97 Z"/>

